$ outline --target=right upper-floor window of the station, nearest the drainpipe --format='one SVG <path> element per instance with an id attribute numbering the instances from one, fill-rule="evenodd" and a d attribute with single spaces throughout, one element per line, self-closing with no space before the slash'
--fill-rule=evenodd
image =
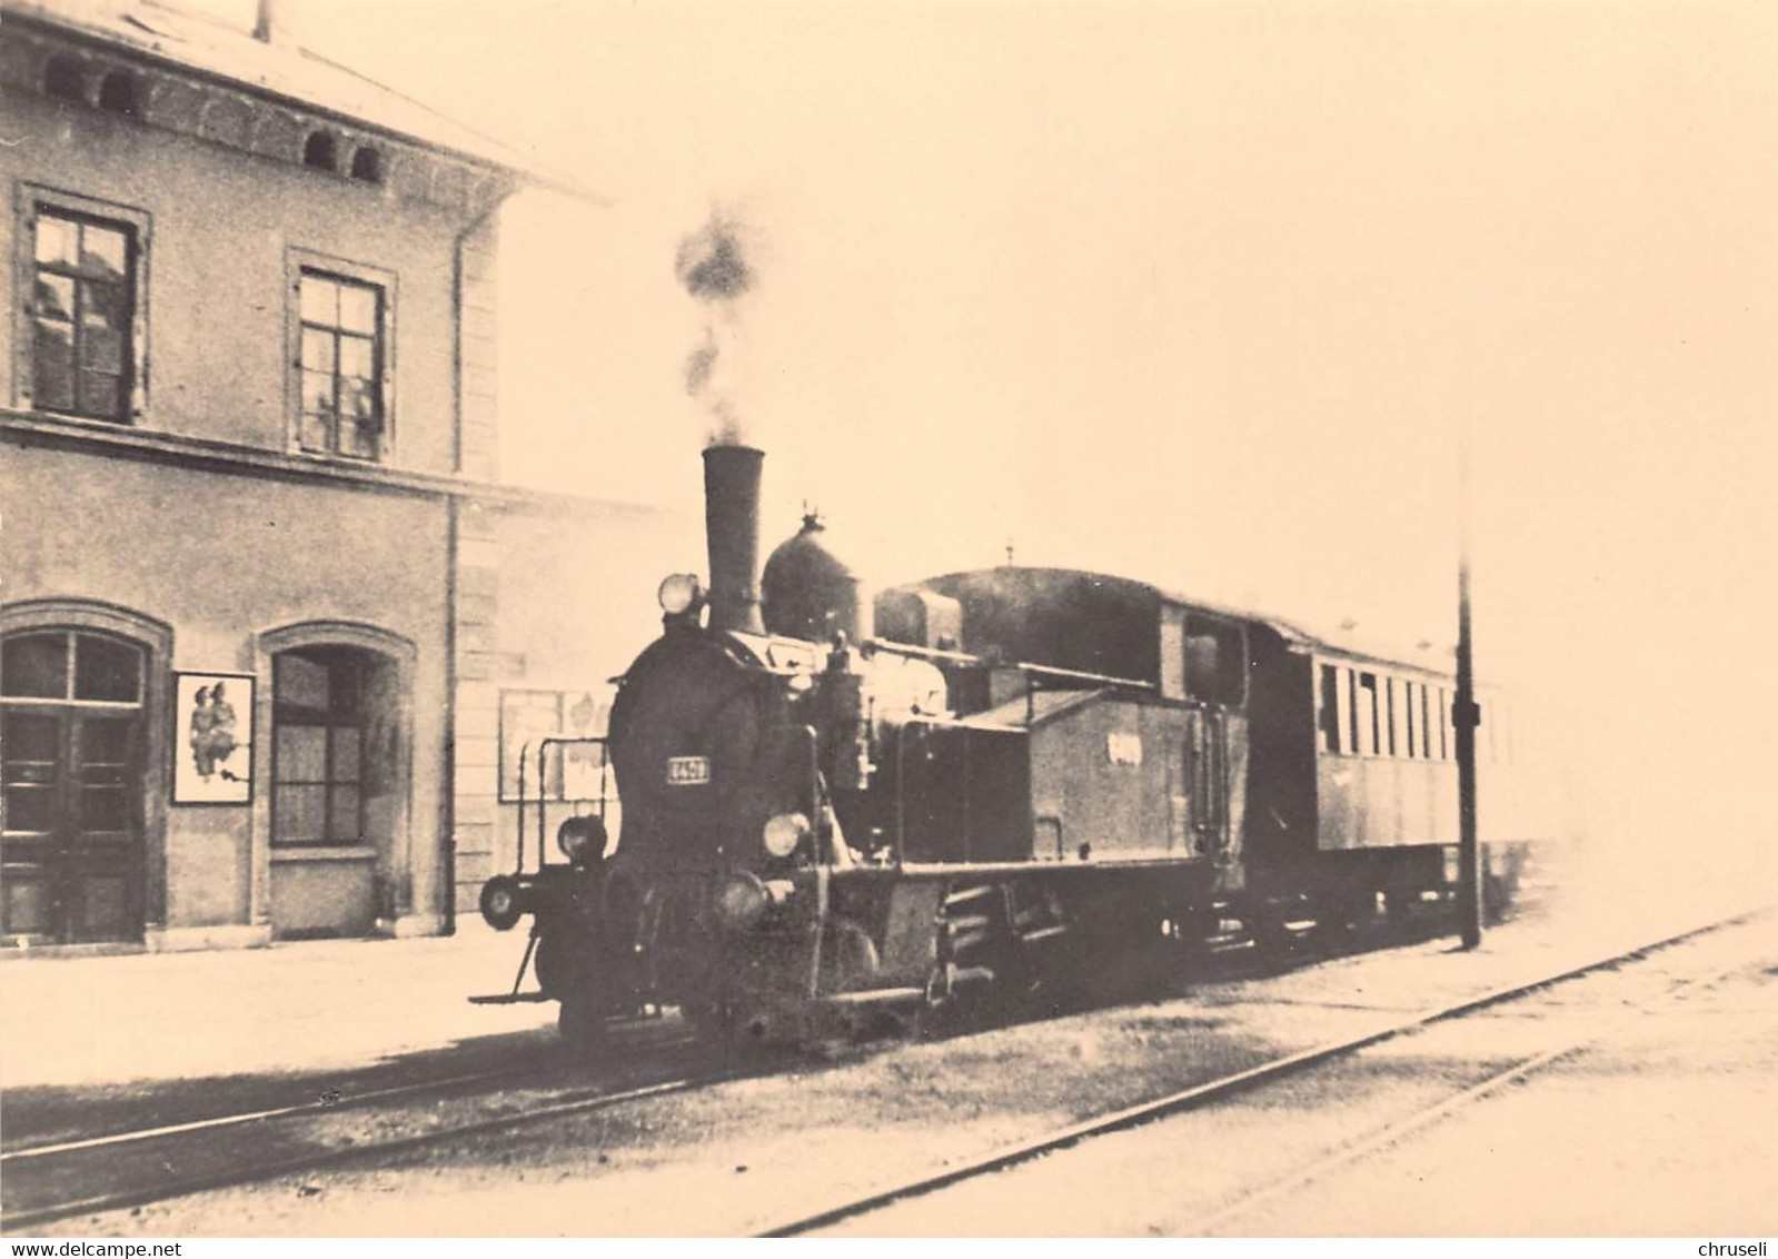
<path id="1" fill-rule="evenodd" d="M 299 279 L 304 450 L 382 459 L 388 425 L 388 290 L 302 267 Z"/>

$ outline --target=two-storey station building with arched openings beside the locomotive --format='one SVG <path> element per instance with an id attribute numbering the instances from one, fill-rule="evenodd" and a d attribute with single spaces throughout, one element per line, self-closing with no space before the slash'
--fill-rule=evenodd
<path id="1" fill-rule="evenodd" d="M 500 210 L 549 176 L 265 4 L 0 25 L 0 942 L 450 930 L 521 738 L 596 733 L 649 630 L 599 599 L 683 564 L 498 480 Z"/>

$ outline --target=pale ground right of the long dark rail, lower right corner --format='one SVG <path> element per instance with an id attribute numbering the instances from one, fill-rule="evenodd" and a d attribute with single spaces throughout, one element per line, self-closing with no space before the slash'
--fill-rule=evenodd
<path id="1" fill-rule="evenodd" d="M 1766 918 L 837 1232 L 1771 1234 L 1774 962 L 1778 919 Z M 1714 987 L 1664 996 L 1680 978 L 1732 966 Z M 1574 1058 L 1387 1135 L 1508 1065 L 1588 1037 L 1597 1042 Z"/>

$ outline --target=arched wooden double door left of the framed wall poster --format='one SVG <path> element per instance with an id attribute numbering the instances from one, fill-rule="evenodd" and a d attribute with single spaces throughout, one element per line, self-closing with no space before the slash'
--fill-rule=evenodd
<path id="1" fill-rule="evenodd" d="M 41 628 L 0 640 L 0 935 L 139 941 L 148 651 Z"/>

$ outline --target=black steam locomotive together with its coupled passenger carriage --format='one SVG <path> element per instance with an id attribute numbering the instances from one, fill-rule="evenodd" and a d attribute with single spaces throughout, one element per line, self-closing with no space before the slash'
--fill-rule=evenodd
<path id="1" fill-rule="evenodd" d="M 619 841 L 571 818 L 560 861 L 484 887 L 493 926 L 532 916 L 569 1037 L 663 1006 L 818 1037 L 1092 990 L 1236 925 L 1289 948 L 1449 893 L 1446 672 L 1095 573 L 869 599 L 816 517 L 756 594 L 761 462 L 704 452 L 709 587 L 661 583 L 661 635 L 610 713 Z M 1529 830 L 1504 702 L 1488 717 L 1504 903 Z"/>

